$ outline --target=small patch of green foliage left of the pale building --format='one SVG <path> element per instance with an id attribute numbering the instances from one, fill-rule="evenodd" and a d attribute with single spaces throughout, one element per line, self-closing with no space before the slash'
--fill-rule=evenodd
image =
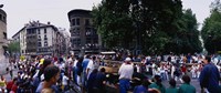
<path id="1" fill-rule="evenodd" d="M 20 52 L 20 43 L 19 42 L 9 43 L 8 50 L 10 53 Z"/>

